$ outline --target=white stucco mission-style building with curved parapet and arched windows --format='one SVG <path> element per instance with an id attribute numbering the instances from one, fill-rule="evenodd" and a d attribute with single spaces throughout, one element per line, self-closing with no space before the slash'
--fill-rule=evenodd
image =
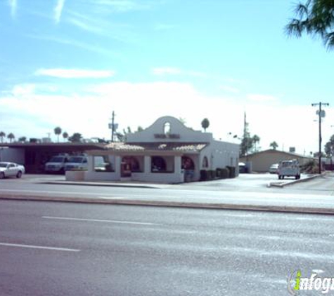
<path id="1" fill-rule="evenodd" d="M 238 167 L 239 145 L 214 140 L 163 116 L 143 131 L 127 134 L 101 150 L 89 150 L 84 180 L 180 183 L 200 180 L 200 170 Z M 97 163 L 97 159 L 104 163 Z M 68 178 L 70 178 L 68 176 Z"/>

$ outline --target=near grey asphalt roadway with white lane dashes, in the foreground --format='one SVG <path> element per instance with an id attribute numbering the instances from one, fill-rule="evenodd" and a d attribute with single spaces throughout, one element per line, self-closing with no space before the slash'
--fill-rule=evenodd
<path id="1" fill-rule="evenodd" d="M 0 200 L 0 295 L 288 295 L 334 276 L 333 239 L 326 215 Z"/>

